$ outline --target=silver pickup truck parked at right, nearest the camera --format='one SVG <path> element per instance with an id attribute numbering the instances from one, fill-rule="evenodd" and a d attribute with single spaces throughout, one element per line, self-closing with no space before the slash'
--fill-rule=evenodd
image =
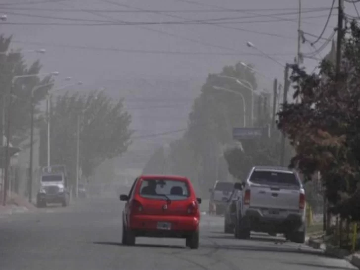
<path id="1" fill-rule="evenodd" d="M 306 235 L 305 191 L 298 174 L 285 167 L 255 166 L 238 201 L 235 237 L 246 239 L 250 231 L 282 233 L 304 243 Z"/>

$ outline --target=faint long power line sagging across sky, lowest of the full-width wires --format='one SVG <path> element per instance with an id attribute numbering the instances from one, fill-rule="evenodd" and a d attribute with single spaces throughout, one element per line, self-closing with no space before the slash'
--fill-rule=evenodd
<path id="1" fill-rule="evenodd" d="M 119 48 L 101 48 L 92 46 L 78 46 L 78 45 L 66 45 L 66 44 L 55 44 L 47 42 L 33 42 L 33 41 L 21 41 L 12 40 L 13 43 L 20 44 L 32 44 L 39 46 L 51 46 L 58 48 L 71 48 L 71 49 L 84 49 L 84 50 L 98 50 L 98 51 L 112 51 L 112 52 L 126 52 L 126 53 L 141 53 L 141 54 L 169 54 L 169 55 L 224 55 L 224 56 L 262 56 L 261 53 L 216 53 L 216 52 L 186 52 L 186 51 L 165 51 L 165 50 L 135 50 L 135 49 L 119 49 Z M 292 55 L 292 53 L 273 53 L 270 55 Z"/>

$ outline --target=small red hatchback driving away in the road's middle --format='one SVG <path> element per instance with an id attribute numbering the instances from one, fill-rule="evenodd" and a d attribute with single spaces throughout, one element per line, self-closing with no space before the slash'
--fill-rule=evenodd
<path id="1" fill-rule="evenodd" d="M 191 182 L 182 176 L 142 175 L 123 211 L 123 245 L 135 245 L 135 237 L 185 238 L 187 247 L 199 247 L 199 204 Z"/>

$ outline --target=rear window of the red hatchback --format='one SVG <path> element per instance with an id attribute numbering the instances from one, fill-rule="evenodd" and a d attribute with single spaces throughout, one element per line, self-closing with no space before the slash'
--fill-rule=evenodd
<path id="1" fill-rule="evenodd" d="M 186 181 L 175 179 L 144 179 L 141 181 L 139 194 L 149 199 L 185 200 L 190 196 Z"/>

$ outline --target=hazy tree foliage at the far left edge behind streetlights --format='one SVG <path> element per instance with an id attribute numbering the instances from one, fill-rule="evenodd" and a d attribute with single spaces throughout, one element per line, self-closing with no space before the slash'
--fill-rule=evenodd
<path id="1" fill-rule="evenodd" d="M 8 51 L 10 44 L 11 37 L 0 36 L 1 52 Z M 49 84 L 52 80 L 50 76 L 43 79 L 39 77 L 18 78 L 15 79 L 13 87 L 11 87 L 12 78 L 14 76 L 38 74 L 41 68 L 39 60 L 27 66 L 21 51 L 10 50 L 7 55 L 0 54 L 0 102 L 1 107 L 2 104 L 6 105 L 4 110 L 5 123 L 10 116 L 10 140 L 14 145 L 19 145 L 29 136 L 32 89 L 38 85 Z M 51 86 L 46 86 L 35 91 L 34 103 L 38 104 L 43 100 L 50 88 Z M 2 110 L 0 115 L 2 117 Z"/>

